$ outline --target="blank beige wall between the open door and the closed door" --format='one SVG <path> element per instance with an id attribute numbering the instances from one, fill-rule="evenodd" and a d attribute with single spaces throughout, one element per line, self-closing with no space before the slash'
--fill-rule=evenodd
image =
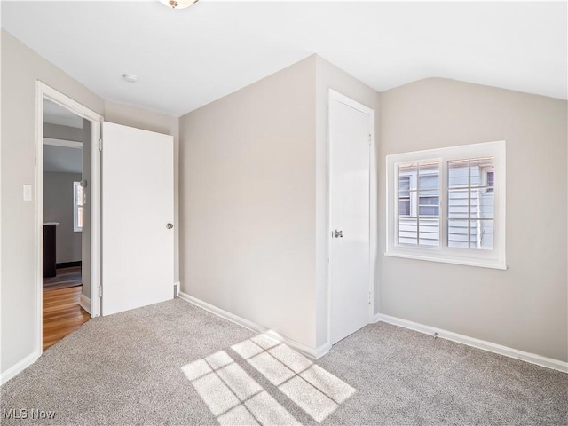
<path id="1" fill-rule="evenodd" d="M 315 57 L 180 119 L 181 290 L 315 347 Z"/>

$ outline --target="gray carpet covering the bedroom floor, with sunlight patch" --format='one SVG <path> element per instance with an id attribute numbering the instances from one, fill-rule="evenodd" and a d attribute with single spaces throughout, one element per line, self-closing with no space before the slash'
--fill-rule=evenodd
<path id="1" fill-rule="evenodd" d="M 309 391 L 290 388 L 295 381 L 304 383 L 300 376 L 308 378 L 302 370 L 305 359 L 281 346 L 279 351 L 272 348 L 285 365 L 298 368 L 296 373 L 288 369 L 293 377 L 280 384 L 274 378 L 276 370 L 263 370 L 260 359 L 270 358 L 268 352 L 256 360 L 243 355 L 248 347 L 260 347 L 248 339 L 254 341 L 256 334 L 177 299 L 91 319 L 4 384 L 0 422 L 3 426 L 227 422 L 231 420 L 227 411 L 214 406 L 216 385 L 204 380 L 215 374 L 195 378 L 201 364 L 210 371 L 225 357 L 233 361 L 232 371 L 241 372 L 233 379 L 248 377 L 248 388 L 242 389 L 260 389 L 264 395 L 234 408 L 229 413 L 233 422 L 245 418 L 239 415 L 252 414 L 254 421 L 264 424 L 278 419 L 313 425 L 568 424 L 568 375 L 383 323 L 363 328 L 316 361 L 319 367 L 314 368 L 343 383 L 340 388 L 356 390 L 344 398 L 337 397 L 334 389 L 327 390 L 337 404 L 332 402 L 335 408 L 325 412 L 325 404 Z M 235 346 L 244 341 L 248 346 Z M 211 358 L 221 350 L 222 357 Z M 218 375 L 225 381 L 226 375 Z M 231 380 L 229 386 L 234 384 Z M 227 394 L 227 400 L 235 395 L 240 397 L 239 390 Z M 263 404 L 269 407 L 265 416 L 258 408 Z M 9 410 L 22 408 L 28 410 L 27 419 L 6 418 Z M 55 418 L 32 420 L 32 409 L 52 410 Z M 315 420 L 323 418 L 319 415 L 325 417 L 320 423 Z"/>

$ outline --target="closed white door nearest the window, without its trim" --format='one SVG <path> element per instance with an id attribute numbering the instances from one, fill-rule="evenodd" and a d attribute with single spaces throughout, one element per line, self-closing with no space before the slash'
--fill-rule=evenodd
<path id="1" fill-rule="evenodd" d="M 373 111 L 330 91 L 332 344 L 369 323 Z"/>

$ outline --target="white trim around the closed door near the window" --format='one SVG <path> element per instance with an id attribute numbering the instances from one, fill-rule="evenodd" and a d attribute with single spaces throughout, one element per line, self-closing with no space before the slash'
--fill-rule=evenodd
<path id="1" fill-rule="evenodd" d="M 351 106 L 363 114 L 369 116 L 369 305 L 368 305 L 368 324 L 375 322 L 375 264 L 377 259 L 377 169 L 376 169 L 376 142 L 375 142 L 375 111 L 368 106 L 360 104 L 342 93 L 329 89 L 327 94 L 327 347 L 331 348 L 331 328 L 333 314 L 333 292 L 332 286 L 333 275 L 331 268 L 331 233 L 332 233 L 332 217 L 331 202 L 333 200 L 332 193 L 332 170 L 331 170 L 331 108 L 334 101 L 344 105 Z"/>

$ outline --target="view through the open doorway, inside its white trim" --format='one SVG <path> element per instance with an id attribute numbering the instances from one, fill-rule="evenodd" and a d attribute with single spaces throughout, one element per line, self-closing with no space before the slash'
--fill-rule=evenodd
<path id="1" fill-rule="evenodd" d="M 43 99 L 43 351 L 91 318 L 91 122 Z"/>

